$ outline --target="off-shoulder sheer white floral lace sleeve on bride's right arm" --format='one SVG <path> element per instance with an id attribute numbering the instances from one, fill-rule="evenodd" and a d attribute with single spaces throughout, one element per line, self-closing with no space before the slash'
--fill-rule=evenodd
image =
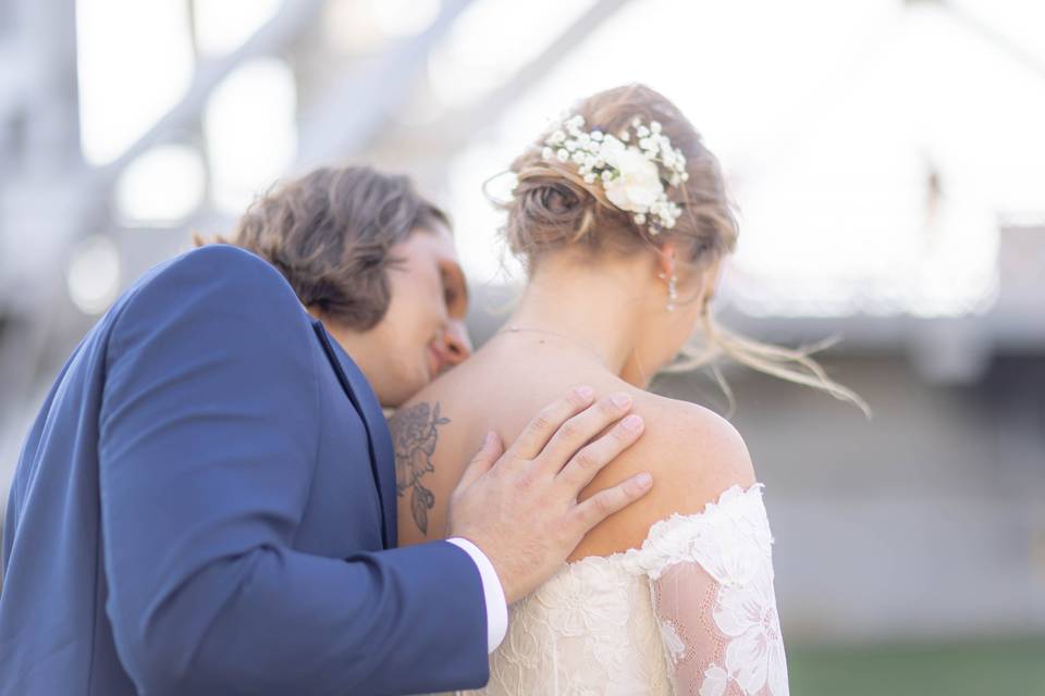
<path id="1" fill-rule="evenodd" d="M 702 513 L 657 522 L 628 551 L 650 579 L 679 696 L 788 693 L 761 488 L 734 486 Z"/>

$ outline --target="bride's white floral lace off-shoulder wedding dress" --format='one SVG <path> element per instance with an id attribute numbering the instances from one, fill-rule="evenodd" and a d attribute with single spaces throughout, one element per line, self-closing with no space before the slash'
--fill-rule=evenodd
<path id="1" fill-rule="evenodd" d="M 784 696 L 762 486 L 650 527 L 640 549 L 567 563 L 511 608 L 490 683 L 512 696 Z"/>

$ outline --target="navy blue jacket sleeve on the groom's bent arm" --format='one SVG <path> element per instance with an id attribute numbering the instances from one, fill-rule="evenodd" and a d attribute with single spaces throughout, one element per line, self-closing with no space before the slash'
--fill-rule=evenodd
<path id="1" fill-rule="evenodd" d="M 322 423 L 311 335 L 274 269 L 231 247 L 174 262 L 115 321 L 99 421 L 106 609 L 143 693 L 487 680 L 482 586 L 464 550 L 293 549 Z"/>

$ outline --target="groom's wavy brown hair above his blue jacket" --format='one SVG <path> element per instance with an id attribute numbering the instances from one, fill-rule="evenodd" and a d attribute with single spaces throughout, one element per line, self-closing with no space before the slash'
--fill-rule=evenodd
<path id="1" fill-rule="evenodd" d="M 450 228 L 445 212 L 406 176 L 369 166 L 322 167 L 278 183 L 256 200 L 232 239 L 279 269 L 306 307 L 367 331 L 391 300 L 391 249 L 415 231 Z"/>

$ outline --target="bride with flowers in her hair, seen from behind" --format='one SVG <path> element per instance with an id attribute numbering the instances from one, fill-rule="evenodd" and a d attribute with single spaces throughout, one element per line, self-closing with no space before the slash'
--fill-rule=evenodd
<path id="1" fill-rule="evenodd" d="M 482 693 L 787 694 L 772 537 L 743 439 L 712 411 L 646 389 L 699 324 L 716 351 L 862 401 L 806 352 L 713 322 L 737 227 L 714 156 L 660 94 L 585 99 L 511 169 L 505 234 L 529 283 L 500 332 L 392 419 L 399 543 L 445 536 L 456 455 L 488 430 L 513 439 L 574 385 L 623 391 L 644 434 L 581 497 L 640 471 L 654 486 L 509 608 Z"/>

